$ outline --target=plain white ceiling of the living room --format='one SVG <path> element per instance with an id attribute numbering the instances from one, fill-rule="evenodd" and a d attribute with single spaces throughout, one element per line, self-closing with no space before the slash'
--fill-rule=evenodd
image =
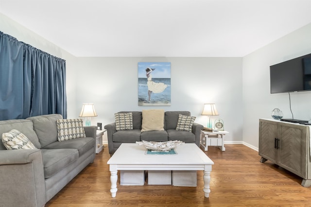
<path id="1" fill-rule="evenodd" d="M 0 13 L 75 56 L 242 57 L 311 23 L 311 0 L 0 0 Z"/>

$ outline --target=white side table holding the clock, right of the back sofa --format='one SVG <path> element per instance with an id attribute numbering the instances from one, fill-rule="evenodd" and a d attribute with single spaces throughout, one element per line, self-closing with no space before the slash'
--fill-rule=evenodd
<path id="1" fill-rule="evenodd" d="M 225 151 L 224 136 L 227 131 L 207 132 L 201 130 L 200 147 L 207 151 L 208 146 L 218 146 L 221 151 Z"/>

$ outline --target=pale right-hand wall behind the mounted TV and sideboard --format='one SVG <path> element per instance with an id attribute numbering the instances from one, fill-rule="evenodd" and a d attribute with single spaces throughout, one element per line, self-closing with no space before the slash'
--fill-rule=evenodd
<path id="1" fill-rule="evenodd" d="M 270 93 L 270 66 L 311 53 L 311 24 L 243 57 L 243 141 L 258 148 L 259 118 L 271 118 L 274 108 L 292 118 L 289 94 Z M 311 119 L 311 92 L 293 92 L 294 119 Z"/>

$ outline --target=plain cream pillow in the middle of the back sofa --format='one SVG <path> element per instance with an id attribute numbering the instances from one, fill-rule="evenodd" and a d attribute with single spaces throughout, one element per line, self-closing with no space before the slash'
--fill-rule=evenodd
<path id="1" fill-rule="evenodd" d="M 164 110 L 142 110 L 141 132 L 164 131 Z"/>

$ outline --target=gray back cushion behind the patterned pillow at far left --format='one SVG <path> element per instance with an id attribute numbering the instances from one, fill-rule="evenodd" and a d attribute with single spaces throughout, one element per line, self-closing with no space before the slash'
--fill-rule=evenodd
<path id="1" fill-rule="evenodd" d="M 0 121 L 0 136 L 3 133 L 9 132 L 12 129 L 16 129 L 23 133 L 36 148 L 40 149 L 41 144 L 39 142 L 38 136 L 34 130 L 34 124 L 30 120 L 5 120 Z M 0 150 L 6 150 L 3 143 L 0 142 Z"/>

